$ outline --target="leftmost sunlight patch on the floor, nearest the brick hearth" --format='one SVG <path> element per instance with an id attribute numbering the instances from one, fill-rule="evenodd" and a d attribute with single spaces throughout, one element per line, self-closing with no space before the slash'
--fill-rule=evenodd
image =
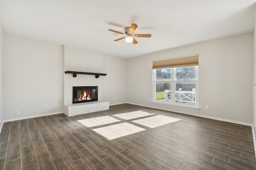
<path id="1" fill-rule="evenodd" d="M 83 119 L 83 120 L 78 120 L 79 123 L 82 123 L 86 127 L 93 127 L 93 126 L 98 126 L 98 125 L 106 125 L 108 123 L 114 123 L 120 121 L 118 119 L 115 119 L 110 116 L 101 116 L 101 117 L 95 117 L 95 118 L 90 118 L 90 119 Z"/>

